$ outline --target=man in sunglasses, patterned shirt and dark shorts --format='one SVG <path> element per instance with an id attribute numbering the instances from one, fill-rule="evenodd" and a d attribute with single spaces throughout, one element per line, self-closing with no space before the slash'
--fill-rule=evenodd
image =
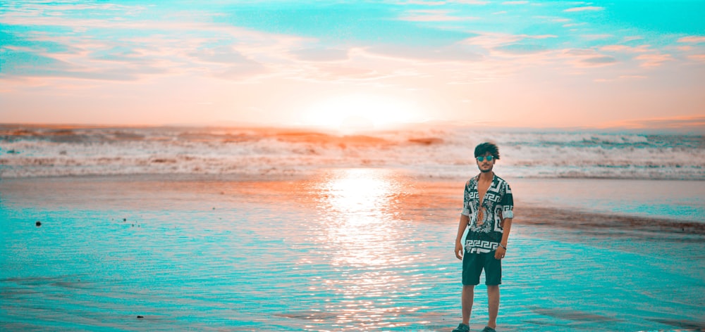
<path id="1" fill-rule="evenodd" d="M 489 321 L 483 332 L 496 332 L 499 310 L 499 285 L 502 283 L 501 260 L 507 252 L 509 231 L 514 217 L 512 189 L 507 181 L 492 171 L 499 159 L 494 143 L 475 147 L 475 162 L 480 174 L 465 184 L 462 212 L 455 237 L 455 257 L 462 260 L 462 323 L 453 332 L 470 331 L 470 313 L 474 287 L 484 269 Z M 467 231 L 465 245 L 462 234 Z"/>

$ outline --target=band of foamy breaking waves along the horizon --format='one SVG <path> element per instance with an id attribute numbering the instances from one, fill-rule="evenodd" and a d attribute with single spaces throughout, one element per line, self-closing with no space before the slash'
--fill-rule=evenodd
<path id="1" fill-rule="evenodd" d="M 0 126 L 0 176 L 309 174 L 391 167 L 422 177 L 477 172 L 474 146 L 494 141 L 513 177 L 705 180 L 698 135 L 434 127 L 364 134 L 305 129 Z"/>

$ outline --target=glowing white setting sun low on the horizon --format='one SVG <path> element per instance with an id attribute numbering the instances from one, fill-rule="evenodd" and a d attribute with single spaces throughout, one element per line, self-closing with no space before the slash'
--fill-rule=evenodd
<path id="1" fill-rule="evenodd" d="M 419 110 L 413 103 L 369 94 L 325 98 L 310 106 L 302 118 L 306 125 L 341 132 L 388 129 L 419 120 Z"/>

